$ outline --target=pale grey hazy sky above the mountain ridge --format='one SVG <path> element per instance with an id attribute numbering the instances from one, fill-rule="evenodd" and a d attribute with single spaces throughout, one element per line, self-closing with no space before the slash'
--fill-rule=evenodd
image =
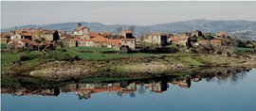
<path id="1" fill-rule="evenodd" d="M 99 22 L 163 24 L 194 19 L 256 21 L 256 2 L 1 2 L 2 28 Z"/>

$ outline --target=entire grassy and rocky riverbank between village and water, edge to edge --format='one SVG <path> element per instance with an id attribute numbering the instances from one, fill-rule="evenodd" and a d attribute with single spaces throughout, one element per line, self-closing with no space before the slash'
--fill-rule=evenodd
<path id="1" fill-rule="evenodd" d="M 220 56 L 175 53 L 103 60 L 53 60 L 33 57 L 33 59 L 25 61 L 13 56 L 17 57 L 18 55 L 2 55 L 2 74 L 33 76 L 49 81 L 66 81 L 86 77 L 143 78 L 170 73 L 192 73 L 217 67 L 235 70 L 256 66 L 256 56 L 253 54 L 247 56 Z"/>

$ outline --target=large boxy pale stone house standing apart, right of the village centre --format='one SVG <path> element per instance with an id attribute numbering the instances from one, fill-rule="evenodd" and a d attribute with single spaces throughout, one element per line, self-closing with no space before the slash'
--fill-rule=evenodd
<path id="1" fill-rule="evenodd" d="M 146 35 L 143 41 L 162 46 L 167 44 L 167 40 L 168 34 L 157 32 Z"/>

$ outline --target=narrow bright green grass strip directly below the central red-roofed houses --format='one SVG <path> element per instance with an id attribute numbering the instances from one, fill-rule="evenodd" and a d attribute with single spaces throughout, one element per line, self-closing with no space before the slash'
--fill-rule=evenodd
<path id="1" fill-rule="evenodd" d="M 118 51 L 113 48 L 107 48 L 107 47 L 76 47 L 77 50 L 80 51 L 87 51 L 87 52 L 110 52 L 110 51 Z"/>

